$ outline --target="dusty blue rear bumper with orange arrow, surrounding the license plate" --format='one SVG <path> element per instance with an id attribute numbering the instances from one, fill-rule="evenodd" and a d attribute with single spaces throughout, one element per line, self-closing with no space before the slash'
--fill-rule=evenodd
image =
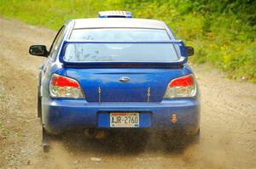
<path id="1" fill-rule="evenodd" d="M 100 128 L 102 126 L 99 116 L 104 114 L 106 117 L 112 111 L 137 111 L 146 116 L 150 114 L 149 126 L 142 125 L 150 129 L 183 129 L 185 132 L 196 132 L 200 124 L 197 99 L 170 99 L 160 103 L 87 103 L 84 99 L 42 99 L 43 124 L 50 133 L 60 133 L 73 128 Z M 173 114 L 177 116 L 175 123 L 172 122 Z M 107 116 L 105 120 L 108 119 Z M 109 128 L 108 125 L 104 127 Z"/>

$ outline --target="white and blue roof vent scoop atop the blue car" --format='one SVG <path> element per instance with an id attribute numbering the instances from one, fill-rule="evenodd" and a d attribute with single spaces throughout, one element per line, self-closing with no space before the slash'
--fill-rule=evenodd
<path id="1" fill-rule="evenodd" d="M 99 18 L 131 18 L 131 12 L 121 10 L 101 11 L 98 14 Z"/>

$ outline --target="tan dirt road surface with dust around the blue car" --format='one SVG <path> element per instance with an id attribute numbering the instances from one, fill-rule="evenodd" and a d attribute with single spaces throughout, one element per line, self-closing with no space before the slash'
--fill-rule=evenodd
<path id="1" fill-rule="evenodd" d="M 55 31 L 0 19 L 0 168 L 256 168 L 256 86 L 194 66 L 201 87 L 201 143 L 165 149 L 148 138 L 143 149 L 63 137 L 45 154 L 37 118 L 37 72 L 28 54 Z"/>

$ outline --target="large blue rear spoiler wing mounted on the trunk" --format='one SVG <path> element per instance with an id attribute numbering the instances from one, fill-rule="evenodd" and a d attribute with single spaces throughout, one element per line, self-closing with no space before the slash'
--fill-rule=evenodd
<path id="1" fill-rule="evenodd" d="M 177 53 L 180 55 L 180 58 L 177 61 L 173 62 L 94 62 L 94 61 L 86 61 L 86 62 L 68 62 L 63 59 L 65 54 L 65 49 L 68 44 L 71 43 L 172 43 L 177 44 L 179 51 Z M 183 65 L 188 61 L 188 56 L 186 54 L 186 49 L 183 41 L 175 40 L 175 41 L 154 41 L 154 42 L 109 42 L 109 41 L 64 41 L 61 53 L 60 53 L 60 62 L 63 63 L 65 67 L 90 67 L 90 68 L 99 68 L 99 67 L 177 67 L 177 65 Z"/>

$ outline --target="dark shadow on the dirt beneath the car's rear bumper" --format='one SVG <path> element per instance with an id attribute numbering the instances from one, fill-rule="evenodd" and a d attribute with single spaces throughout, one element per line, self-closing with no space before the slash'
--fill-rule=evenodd
<path id="1" fill-rule="evenodd" d="M 99 155 L 138 155 L 144 152 L 177 155 L 183 154 L 184 149 L 193 144 L 186 138 L 175 137 L 155 132 L 112 132 L 106 138 L 96 139 L 83 132 L 68 132 L 58 142 L 74 154 Z"/>

